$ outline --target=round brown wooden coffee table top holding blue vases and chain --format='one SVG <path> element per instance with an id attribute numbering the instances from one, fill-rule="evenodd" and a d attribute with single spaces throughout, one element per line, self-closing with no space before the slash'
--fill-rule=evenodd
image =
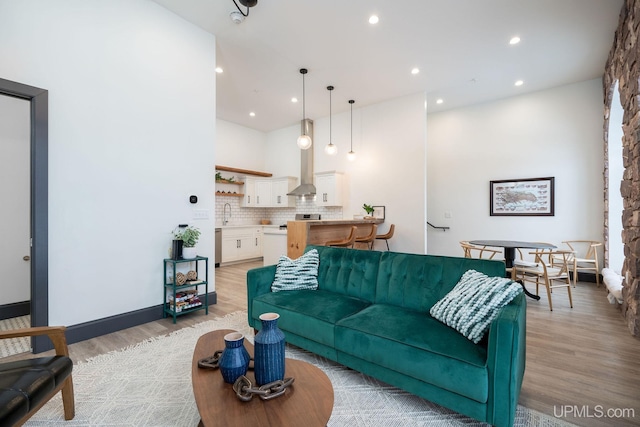
<path id="1" fill-rule="evenodd" d="M 232 384 L 222 380 L 219 370 L 198 368 L 198 360 L 209 357 L 216 350 L 224 349 L 224 336 L 230 332 L 222 329 L 204 334 L 193 351 L 191 379 L 193 394 L 201 426 L 326 426 L 333 410 L 333 386 L 319 368 L 301 360 L 286 359 L 285 378 L 295 381 L 283 396 L 262 400 L 254 396 L 243 402 L 236 396 Z M 253 357 L 253 345 L 246 339 L 244 346 Z M 247 372 L 254 386 L 252 371 Z"/>

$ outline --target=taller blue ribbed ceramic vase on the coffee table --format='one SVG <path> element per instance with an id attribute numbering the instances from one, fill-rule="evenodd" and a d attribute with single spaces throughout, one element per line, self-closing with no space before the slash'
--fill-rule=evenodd
<path id="1" fill-rule="evenodd" d="M 253 366 L 256 383 L 284 379 L 284 333 L 278 329 L 278 313 L 260 315 L 262 329 L 255 336 Z"/>

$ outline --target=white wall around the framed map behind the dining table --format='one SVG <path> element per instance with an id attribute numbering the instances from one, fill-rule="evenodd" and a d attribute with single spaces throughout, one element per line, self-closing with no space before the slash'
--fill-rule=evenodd
<path id="1" fill-rule="evenodd" d="M 600 79 L 428 116 L 429 253 L 460 240 L 602 240 Z M 555 216 L 489 216 L 489 181 L 555 177 Z M 451 218 L 445 218 L 445 212 Z"/>

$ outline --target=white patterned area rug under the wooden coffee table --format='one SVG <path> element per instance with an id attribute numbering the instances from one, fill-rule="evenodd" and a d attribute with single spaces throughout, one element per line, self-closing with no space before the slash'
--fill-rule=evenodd
<path id="1" fill-rule="evenodd" d="M 58 395 L 26 425 L 198 425 L 191 359 L 198 338 L 216 329 L 238 330 L 253 342 L 246 312 L 236 312 L 97 356 L 74 366 L 76 416 L 72 421 L 64 421 Z M 287 346 L 287 357 L 313 363 L 331 380 L 334 408 L 329 426 L 486 426 L 301 349 Z M 519 407 L 514 425 L 569 424 Z"/>

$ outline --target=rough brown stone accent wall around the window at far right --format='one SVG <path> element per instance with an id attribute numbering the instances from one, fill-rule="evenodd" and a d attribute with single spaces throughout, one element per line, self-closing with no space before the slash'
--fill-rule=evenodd
<path id="1" fill-rule="evenodd" d="M 625 261 L 622 267 L 623 304 L 622 314 L 627 321 L 629 331 L 640 337 L 640 0 L 625 0 L 620 12 L 620 20 L 615 39 L 605 67 L 603 77 L 605 109 L 605 202 L 608 202 L 609 190 L 617 191 L 617 185 L 609 187 L 608 182 L 608 129 L 612 93 L 616 81 L 620 91 L 620 102 L 624 109 L 623 117 L 623 164 L 624 175 L 620 191 L 623 198 L 622 242 Z M 605 203 L 608 206 L 608 203 Z M 605 215 L 607 218 L 608 215 Z M 605 253 L 608 250 L 608 223 L 605 220 Z M 606 257 L 606 255 L 605 255 Z"/>

